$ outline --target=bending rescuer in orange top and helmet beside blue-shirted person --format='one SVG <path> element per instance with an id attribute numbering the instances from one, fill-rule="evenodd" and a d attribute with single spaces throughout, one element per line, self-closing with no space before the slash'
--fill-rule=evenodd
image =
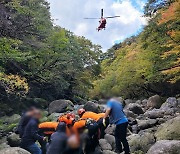
<path id="1" fill-rule="evenodd" d="M 108 118 L 106 119 L 105 123 L 103 123 L 103 117 L 105 116 L 105 113 L 94 113 L 90 111 L 86 111 L 85 109 L 81 108 L 78 110 L 78 114 L 82 119 L 93 119 L 98 123 L 99 129 L 100 129 L 100 138 L 103 138 L 105 135 L 105 129 L 107 128 L 109 124 Z"/>

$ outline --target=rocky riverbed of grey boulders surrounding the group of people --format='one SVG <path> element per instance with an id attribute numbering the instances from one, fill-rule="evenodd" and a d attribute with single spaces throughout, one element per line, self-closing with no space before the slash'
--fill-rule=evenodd
<path id="1" fill-rule="evenodd" d="M 129 119 L 128 141 L 132 154 L 180 153 L 180 98 L 170 97 L 162 101 L 158 95 L 144 100 L 123 100 L 124 112 Z M 62 113 L 84 107 L 87 111 L 103 112 L 105 100 L 89 101 L 74 105 L 69 100 L 56 100 L 43 111 L 41 121 L 56 121 Z M 20 139 L 14 133 L 20 115 L 0 118 L 0 153 L 29 154 L 18 148 Z M 104 139 L 99 140 L 95 154 L 115 154 L 114 125 L 108 126 Z"/>

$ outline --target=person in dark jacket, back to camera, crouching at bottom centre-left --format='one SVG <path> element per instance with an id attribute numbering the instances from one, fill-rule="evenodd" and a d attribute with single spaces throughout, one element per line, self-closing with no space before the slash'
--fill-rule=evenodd
<path id="1" fill-rule="evenodd" d="M 47 146 L 47 154 L 63 154 L 66 150 L 66 145 L 66 124 L 60 122 L 56 132 L 51 135 L 50 142 Z"/>

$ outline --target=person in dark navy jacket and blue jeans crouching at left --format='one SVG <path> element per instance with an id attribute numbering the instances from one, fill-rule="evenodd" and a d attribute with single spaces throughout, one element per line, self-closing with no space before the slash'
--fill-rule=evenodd
<path id="1" fill-rule="evenodd" d="M 21 147 L 29 151 L 31 154 L 42 154 L 41 149 L 35 143 L 36 141 L 42 142 L 45 140 L 43 136 L 38 134 L 38 124 L 40 118 L 41 112 L 36 109 L 33 112 L 32 118 L 26 125 L 22 135 Z"/>

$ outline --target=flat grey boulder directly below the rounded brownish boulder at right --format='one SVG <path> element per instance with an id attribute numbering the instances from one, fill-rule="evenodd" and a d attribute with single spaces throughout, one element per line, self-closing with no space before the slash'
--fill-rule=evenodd
<path id="1" fill-rule="evenodd" d="M 147 116 L 150 119 L 156 119 L 156 118 L 163 118 L 165 111 L 161 109 L 153 109 L 151 111 L 146 111 L 144 113 L 145 116 Z"/>

